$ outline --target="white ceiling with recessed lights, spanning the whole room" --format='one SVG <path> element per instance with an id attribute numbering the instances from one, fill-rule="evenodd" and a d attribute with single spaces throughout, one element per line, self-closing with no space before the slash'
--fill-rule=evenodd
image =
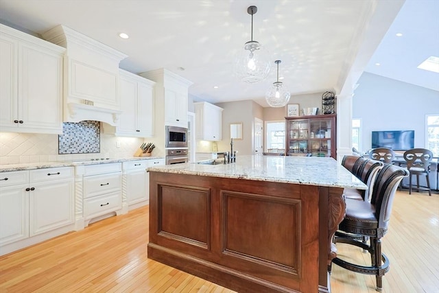
<path id="1" fill-rule="evenodd" d="M 346 84 L 355 84 L 365 68 L 439 91 L 438 73 L 416 69 L 420 60 L 439 56 L 439 1 L 403 3 L 0 0 L 0 20 L 36 34 L 66 25 L 127 54 L 120 64 L 123 69 L 141 73 L 166 68 L 187 78 L 193 82 L 189 93 L 195 100 L 254 99 L 267 106 L 265 91 L 276 81 L 274 60 L 282 60 L 279 75 L 285 77 L 282 81 L 292 95 L 340 93 Z M 250 40 L 250 5 L 258 7 L 253 39 L 272 53 L 273 60 L 269 77 L 257 84 L 246 84 L 233 75 L 235 54 Z M 130 38 L 119 38 L 119 32 Z M 397 38 L 396 32 L 403 36 Z"/>

